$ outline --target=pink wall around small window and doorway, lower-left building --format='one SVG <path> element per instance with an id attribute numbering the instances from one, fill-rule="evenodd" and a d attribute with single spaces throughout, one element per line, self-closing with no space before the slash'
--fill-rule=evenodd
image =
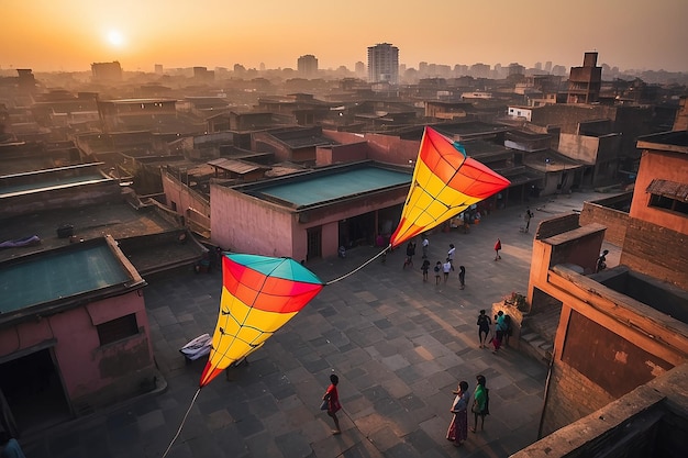
<path id="1" fill-rule="evenodd" d="M 97 326 L 136 315 L 138 334 L 100 345 Z M 143 294 L 132 291 L 26 321 L 0 331 L 0 356 L 55 339 L 54 353 L 76 414 L 89 413 L 140 393 L 153 381 L 155 365 Z"/>

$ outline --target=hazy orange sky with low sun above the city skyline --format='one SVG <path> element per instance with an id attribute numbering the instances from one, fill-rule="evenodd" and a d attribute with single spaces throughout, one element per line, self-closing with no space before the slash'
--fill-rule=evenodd
<path id="1" fill-rule="evenodd" d="M 0 68 L 124 70 L 367 64 L 377 43 L 399 63 L 490 66 L 547 60 L 688 71 L 688 0 L 0 0 Z"/>

